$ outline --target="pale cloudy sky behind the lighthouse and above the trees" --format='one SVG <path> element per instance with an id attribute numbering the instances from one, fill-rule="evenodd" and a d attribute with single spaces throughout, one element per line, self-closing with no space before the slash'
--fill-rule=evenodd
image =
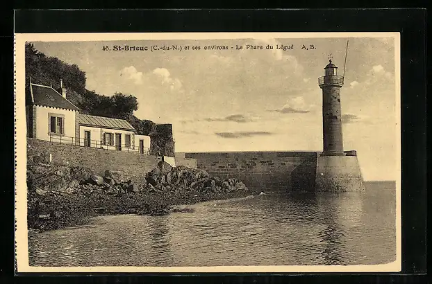
<path id="1" fill-rule="evenodd" d="M 77 64 L 85 71 L 87 89 L 136 96 L 138 118 L 172 123 L 176 152 L 321 151 L 322 90 L 317 78 L 324 76 L 330 53 L 342 75 L 347 40 L 341 89 L 344 150 L 357 150 L 365 180 L 395 180 L 392 37 L 33 44 L 48 56 Z M 263 50 L 246 49 L 248 44 Z M 113 51 L 115 45 L 177 45 L 182 51 Z M 213 45 L 229 48 L 204 49 Z M 276 45 L 293 48 L 283 51 Z"/>

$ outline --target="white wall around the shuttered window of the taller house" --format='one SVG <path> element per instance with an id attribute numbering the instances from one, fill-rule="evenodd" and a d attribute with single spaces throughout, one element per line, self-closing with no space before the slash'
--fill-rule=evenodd
<path id="1" fill-rule="evenodd" d="M 35 114 L 33 118 L 36 119 L 36 139 L 49 141 L 49 115 L 48 114 L 61 114 L 65 117 L 63 124 L 65 133 L 63 135 L 51 135 L 51 141 L 62 143 L 72 143 L 72 138 L 75 138 L 75 116 L 76 112 L 69 109 L 59 109 L 56 107 L 35 107 Z"/>

